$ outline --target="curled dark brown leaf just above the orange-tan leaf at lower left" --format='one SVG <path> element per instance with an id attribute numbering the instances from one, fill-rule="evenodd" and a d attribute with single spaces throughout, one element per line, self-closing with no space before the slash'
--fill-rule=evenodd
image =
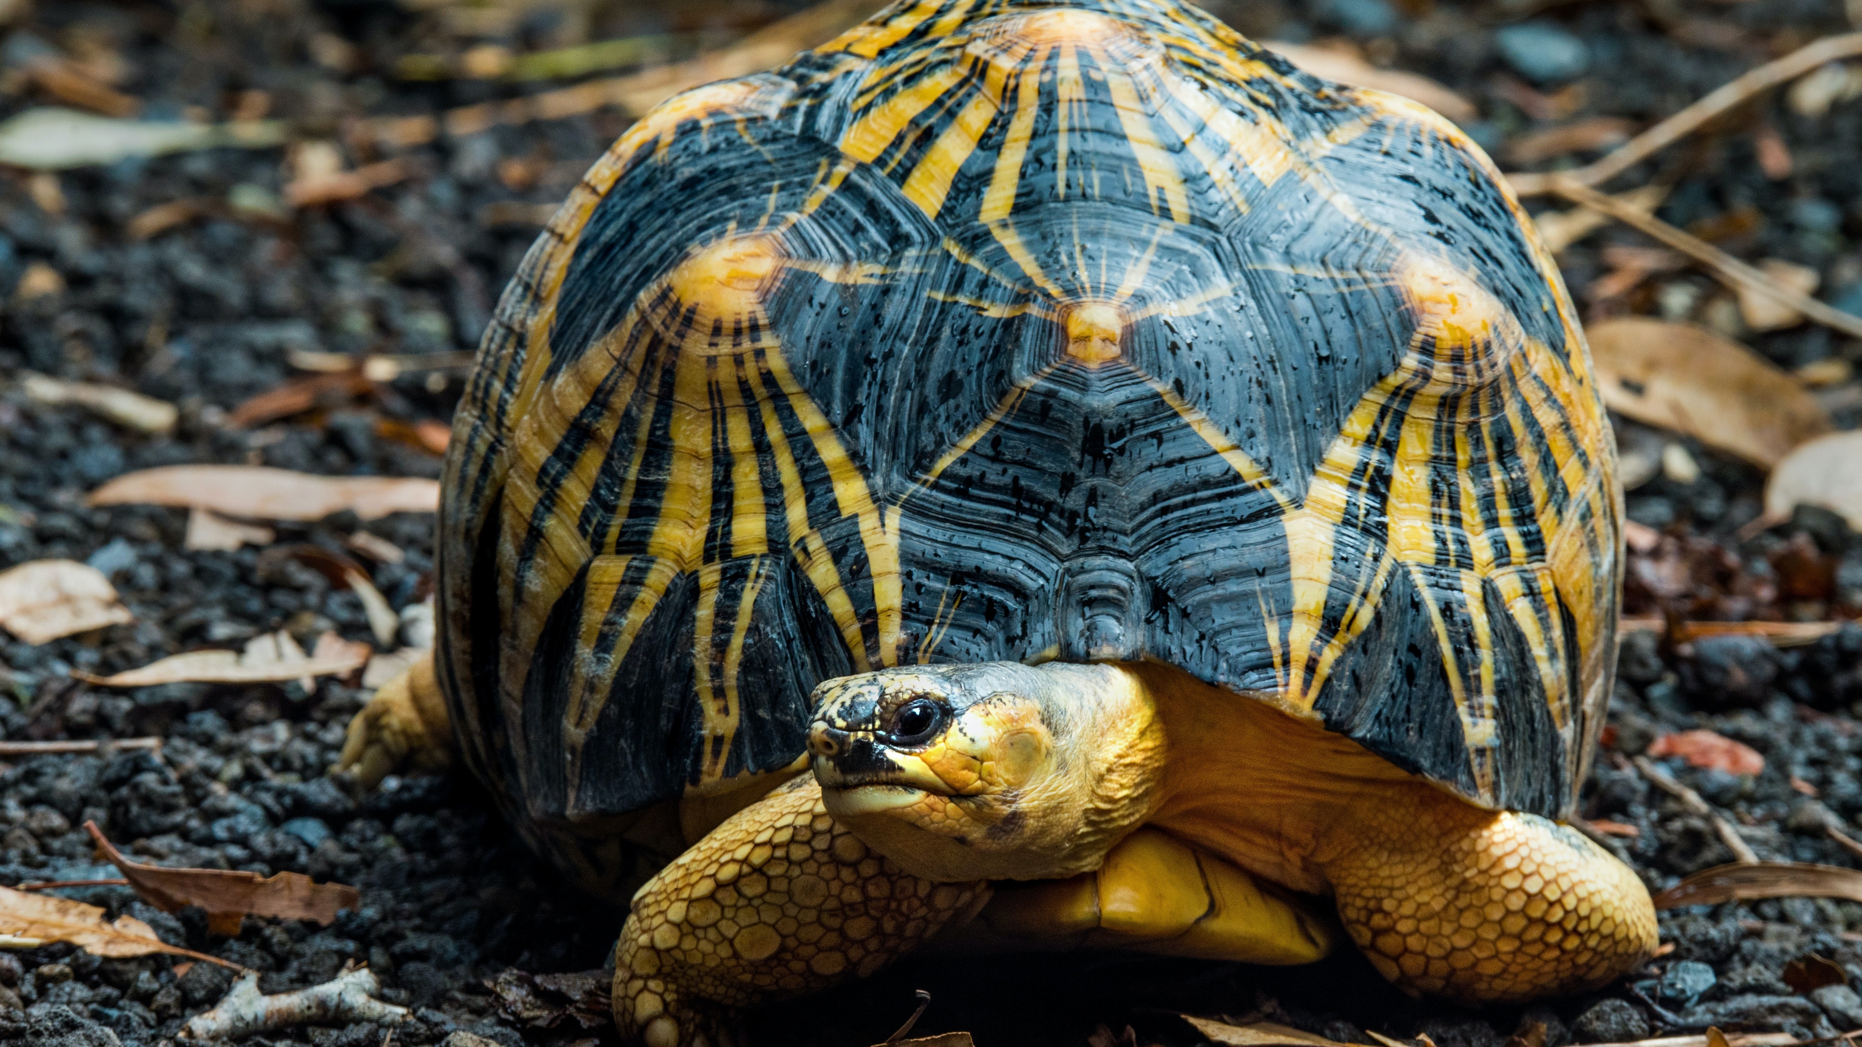
<path id="1" fill-rule="evenodd" d="M 236 935 L 246 917 L 315 920 L 328 928 L 339 911 L 361 904 L 361 892 L 354 887 L 317 883 L 302 872 L 261 877 L 257 872 L 132 863 L 104 838 L 95 822 L 86 822 L 84 831 L 145 902 L 164 913 L 199 905 L 207 911 L 207 930 L 214 933 Z"/>

